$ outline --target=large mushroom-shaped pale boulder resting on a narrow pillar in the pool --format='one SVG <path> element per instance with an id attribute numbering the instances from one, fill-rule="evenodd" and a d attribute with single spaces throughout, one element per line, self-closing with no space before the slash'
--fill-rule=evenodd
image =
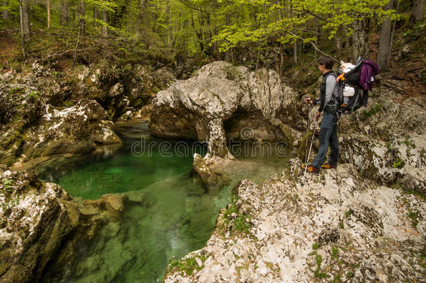
<path id="1" fill-rule="evenodd" d="M 196 138 L 208 144 L 207 157 L 232 159 L 227 137 L 284 139 L 292 145 L 294 130 L 287 124 L 295 124 L 295 98 L 296 92 L 283 85 L 275 71 L 250 72 L 216 61 L 159 92 L 149 128 L 155 136 Z M 248 136 L 244 129 L 250 130 Z"/>

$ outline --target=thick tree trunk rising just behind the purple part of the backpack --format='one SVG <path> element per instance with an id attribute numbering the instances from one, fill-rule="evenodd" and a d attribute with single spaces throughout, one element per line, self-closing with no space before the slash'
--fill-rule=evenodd
<path id="1" fill-rule="evenodd" d="M 385 6 L 384 10 L 393 9 L 395 5 L 395 0 L 390 0 L 389 3 Z M 380 31 L 380 40 L 379 40 L 379 52 L 377 52 L 377 65 L 380 69 L 389 68 L 390 66 L 390 33 L 392 31 L 392 21 L 388 17 L 381 26 Z"/>

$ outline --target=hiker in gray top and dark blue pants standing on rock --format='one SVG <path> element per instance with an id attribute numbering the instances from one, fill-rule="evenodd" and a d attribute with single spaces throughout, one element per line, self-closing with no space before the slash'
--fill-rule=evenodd
<path id="1" fill-rule="evenodd" d="M 318 113 L 316 113 L 315 119 L 318 120 L 321 116 L 321 112 L 324 110 L 323 121 L 321 122 L 321 129 L 319 134 L 320 147 L 318 155 L 312 161 L 311 164 L 302 165 L 302 169 L 309 173 L 318 174 L 320 168 L 330 169 L 336 168 L 337 158 L 339 157 L 339 140 L 337 139 L 337 120 L 339 119 L 336 113 L 337 101 L 335 101 L 336 87 L 336 74 L 331 71 L 333 68 L 334 61 L 331 57 L 323 56 L 318 59 L 318 70 L 323 73 L 323 83 L 321 84 L 321 99 L 310 100 L 305 99 L 306 103 L 310 103 L 312 106 L 320 104 Z M 328 151 L 328 145 L 330 144 L 330 159 L 328 164 L 323 164 L 325 160 L 325 154 Z"/>

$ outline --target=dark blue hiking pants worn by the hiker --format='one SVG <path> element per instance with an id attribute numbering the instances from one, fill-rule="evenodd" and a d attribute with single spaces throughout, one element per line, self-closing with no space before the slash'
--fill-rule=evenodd
<path id="1" fill-rule="evenodd" d="M 324 111 L 319 138 L 320 147 L 318 150 L 318 155 L 314 161 L 312 161 L 312 165 L 314 165 L 316 168 L 321 167 L 321 165 L 324 163 L 325 154 L 327 154 L 328 151 L 328 145 L 330 145 L 330 159 L 328 159 L 328 164 L 336 165 L 337 158 L 339 158 L 339 140 L 337 139 L 336 114 Z"/>

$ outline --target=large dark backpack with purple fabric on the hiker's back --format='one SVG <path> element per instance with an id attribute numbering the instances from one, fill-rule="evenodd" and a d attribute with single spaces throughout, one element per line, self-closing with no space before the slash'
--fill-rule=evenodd
<path id="1" fill-rule="evenodd" d="M 372 90 L 374 75 L 379 74 L 379 67 L 372 61 L 359 57 L 355 67 L 345 73 L 344 80 L 337 84 L 337 96 L 343 101 L 343 90 L 345 85 L 351 85 L 355 94 L 349 98 L 346 107 L 340 108 L 342 114 L 348 115 L 358 110 L 361 106 L 367 106 L 368 90 Z M 361 93 L 362 90 L 362 93 Z"/>

